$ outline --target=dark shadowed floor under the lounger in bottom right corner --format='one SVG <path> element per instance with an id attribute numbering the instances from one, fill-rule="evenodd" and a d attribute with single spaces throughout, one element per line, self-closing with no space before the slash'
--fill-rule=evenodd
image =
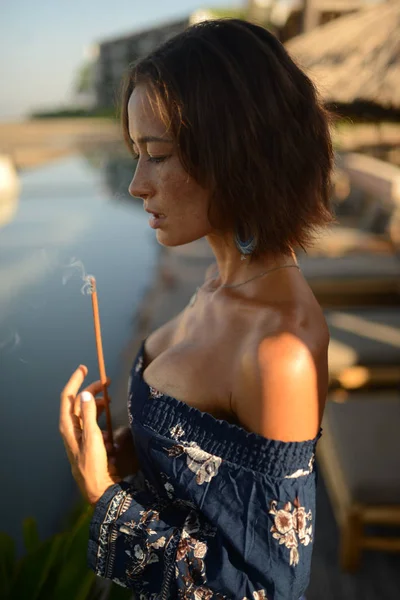
<path id="1" fill-rule="evenodd" d="M 359 571 L 339 566 L 339 535 L 322 476 L 317 495 L 316 535 L 307 600 L 399 600 L 400 554 L 365 551 Z"/>

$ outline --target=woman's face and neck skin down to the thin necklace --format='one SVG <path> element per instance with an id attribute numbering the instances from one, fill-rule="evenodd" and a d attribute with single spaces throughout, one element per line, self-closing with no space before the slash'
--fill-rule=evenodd
<path id="1" fill-rule="evenodd" d="M 146 86 L 133 90 L 127 108 L 129 134 L 139 158 L 129 192 L 142 198 L 145 208 L 167 216 L 156 229 L 160 244 L 180 246 L 206 237 L 218 264 L 217 285 L 245 281 L 268 267 L 288 262 L 287 257 L 268 255 L 253 261 L 251 266 L 242 261 L 233 232 L 222 233 L 211 226 L 207 217 L 209 191 L 184 170 L 172 134 Z M 149 136 L 162 141 L 141 141 Z M 162 162 L 156 162 L 157 158 Z"/>

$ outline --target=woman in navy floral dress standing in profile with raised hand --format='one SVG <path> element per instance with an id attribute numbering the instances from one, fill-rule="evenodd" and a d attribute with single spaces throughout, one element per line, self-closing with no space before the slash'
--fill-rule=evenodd
<path id="1" fill-rule="evenodd" d="M 61 432 L 95 507 L 90 566 L 139 598 L 306 590 L 329 336 L 294 249 L 331 220 L 328 121 L 282 45 L 240 20 L 190 27 L 128 74 L 130 193 L 160 244 L 205 236 L 216 259 L 134 361 L 130 470 L 108 464 L 99 382 L 77 395 L 86 367 L 62 394 Z"/>

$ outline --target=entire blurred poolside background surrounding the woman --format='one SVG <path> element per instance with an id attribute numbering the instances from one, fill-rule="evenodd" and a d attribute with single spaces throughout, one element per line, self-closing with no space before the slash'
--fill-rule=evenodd
<path id="1" fill-rule="evenodd" d="M 90 511 L 58 433 L 80 363 L 98 378 L 97 279 L 114 424 L 140 341 L 212 262 L 162 248 L 128 185 L 128 64 L 204 19 L 272 31 L 335 112 L 338 223 L 298 260 L 331 332 L 307 600 L 400 598 L 400 0 L 3 0 L 0 24 L 0 597 L 128 598 L 85 566 Z M 117 232 L 117 235 L 116 235 Z"/>

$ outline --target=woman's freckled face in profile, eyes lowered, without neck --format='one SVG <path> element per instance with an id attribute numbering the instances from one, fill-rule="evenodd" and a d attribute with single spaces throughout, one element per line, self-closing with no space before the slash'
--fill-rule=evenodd
<path id="1" fill-rule="evenodd" d="M 144 85 L 132 92 L 128 122 L 139 159 L 129 193 L 142 198 L 145 209 L 165 215 L 156 230 L 159 243 L 179 246 L 210 233 L 209 193 L 183 169 L 176 142 Z"/>

